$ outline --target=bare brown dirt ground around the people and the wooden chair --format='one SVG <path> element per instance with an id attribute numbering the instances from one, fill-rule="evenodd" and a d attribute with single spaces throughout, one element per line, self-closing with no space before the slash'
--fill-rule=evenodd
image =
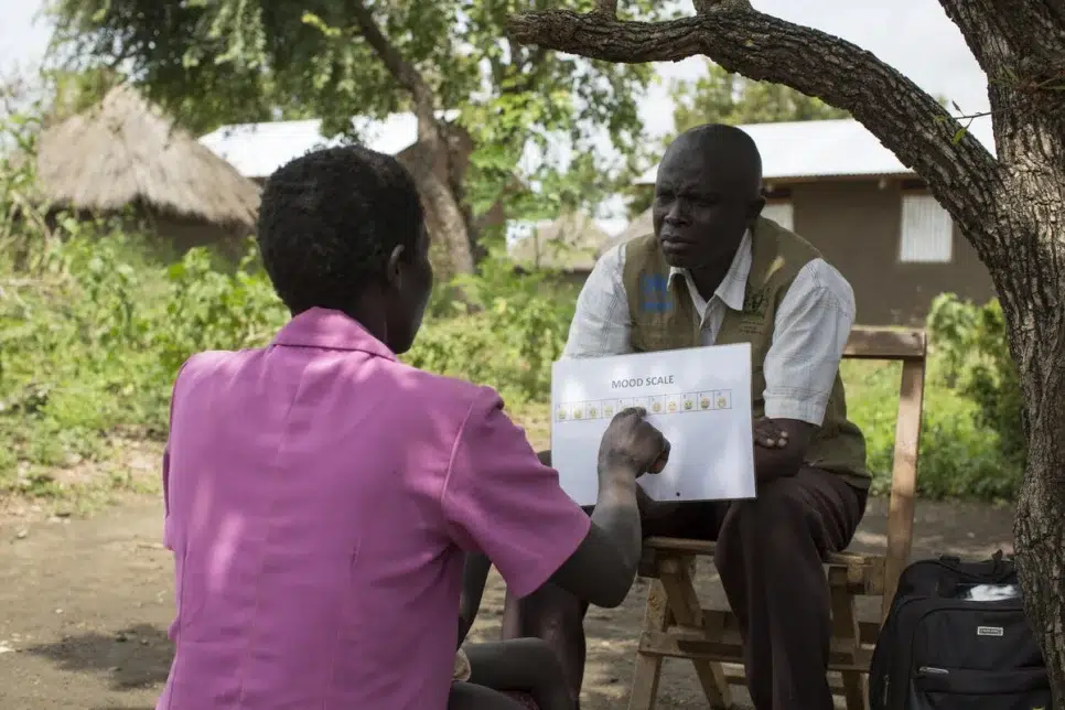
<path id="1" fill-rule="evenodd" d="M 1008 549 L 1011 514 L 921 505 L 915 555 Z M 160 519 L 158 503 L 140 499 L 90 519 L 0 521 L 0 709 L 153 708 L 171 654 L 171 560 L 159 545 Z M 883 532 L 883 505 L 874 502 L 857 547 L 882 546 Z M 621 609 L 589 614 L 585 710 L 624 707 L 645 593 L 642 584 Z M 502 598 L 494 578 L 475 635 L 497 633 Z M 660 688 L 660 708 L 706 707 L 690 666 L 667 663 Z"/>

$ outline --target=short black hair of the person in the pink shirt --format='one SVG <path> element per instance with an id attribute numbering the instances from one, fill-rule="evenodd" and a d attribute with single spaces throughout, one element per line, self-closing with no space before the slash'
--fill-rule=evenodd
<path id="1" fill-rule="evenodd" d="M 409 254 L 424 227 L 413 178 L 362 146 L 314 150 L 279 168 L 262 190 L 256 240 L 293 313 L 345 311 L 379 278 L 392 250 Z"/>

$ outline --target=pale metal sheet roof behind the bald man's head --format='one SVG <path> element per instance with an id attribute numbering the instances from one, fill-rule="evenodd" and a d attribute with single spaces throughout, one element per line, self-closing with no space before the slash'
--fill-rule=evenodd
<path id="1" fill-rule="evenodd" d="M 864 126 L 853 119 L 753 123 L 740 126 L 762 153 L 762 173 L 766 180 L 797 178 L 836 178 L 848 175 L 911 175 L 895 154 Z M 973 121 L 969 130 L 994 151 L 989 119 Z M 638 185 L 653 185 L 658 174 L 655 165 L 636 180 Z"/>

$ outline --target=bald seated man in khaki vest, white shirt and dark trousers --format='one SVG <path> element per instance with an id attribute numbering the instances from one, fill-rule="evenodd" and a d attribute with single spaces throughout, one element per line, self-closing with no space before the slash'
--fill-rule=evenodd
<path id="1" fill-rule="evenodd" d="M 566 356 L 751 344 L 757 497 L 645 505 L 644 532 L 718 541 L 759 710 L 830 710 L 821 564 L 850 542 L 869 483 L 839 378 L 854 298 L 813 246 L 761 217 L 764 204 L 746 133 L 711 125 L 677 138 L 658 168 L 654 234 L 595 265 Z M 505 637 L 549 641 L 577 697 L 587 603 L 549 584 L 507 606 Z"/>

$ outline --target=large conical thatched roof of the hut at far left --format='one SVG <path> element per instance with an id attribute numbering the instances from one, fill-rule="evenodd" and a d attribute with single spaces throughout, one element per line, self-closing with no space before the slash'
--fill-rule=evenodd
<path id="1" fill-rule="evenodd" d="M 259 206 L 258 185 L 125 85 L 41 135 L 37 181 L 56 206 L 116 213 L 135 205 L 186 228 L 247 233 Z"/>

